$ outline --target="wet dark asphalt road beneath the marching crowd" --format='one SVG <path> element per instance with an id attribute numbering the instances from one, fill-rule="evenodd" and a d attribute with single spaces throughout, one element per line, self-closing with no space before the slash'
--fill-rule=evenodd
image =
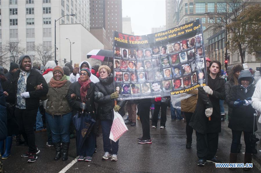
<path id="1" fill-rule="evenodd" d="M 225 108 L 227 112 L 227 108 Z M 103 143 L 102 134 L 97 137 L 97 153 L 93 155 L 91 162 L 81 161 L 71 166 L 67 172 L 244 172 L 242 168 L 230 171 L 228 168 L 216 168 L 214 163 L 206 163 L 204 167 L 197 166 L 195 131 L 191 149 L 185 148 L 186 123 L 173 121 L 170 117 L 170 109 L 167 110 L 166 128 L 151 129 L 152 144 L 138 144 L 137 137 L 142 135 L 140 121 L 136 127 L 128 125 L 129 131 L 119 140 L 118 161 L 102 160 Z M 125 116 L 124 116 L 125 118 Z M 231 130 L 227 127 L 228 121 L 222 122 L 222 132 L 219 134 L 217 158 L 222 163 L 229 163 L 229 152 L 232 141 Z M 259 125 L 259 128 L 260 125 Z M 100 130 L 101 131 L 101 130 Z M 243 135 L 242 135 L 243 137 Z M 46 133 L 36 133 L 36 143 L 41 151 L 35 163 L 27 163 L 21 154 L 27 147 L 12 145 L 10 158 L 3 160 L 5 172 L 60 172 L 76 157 L 75 139 L 71 139 L 69 159 L 67 161 L 54 161 L 55 150 L 46 145 Z M 242 150 L 245 146 L 243 139 Z M 261 150 L 261 145 L 258 145 Z M 261 152 L 253 156 L 253 169 L 249 172 L 260 172 Z M 238 155 L 238 163 L 244 162 L 244 154 Z"/>

